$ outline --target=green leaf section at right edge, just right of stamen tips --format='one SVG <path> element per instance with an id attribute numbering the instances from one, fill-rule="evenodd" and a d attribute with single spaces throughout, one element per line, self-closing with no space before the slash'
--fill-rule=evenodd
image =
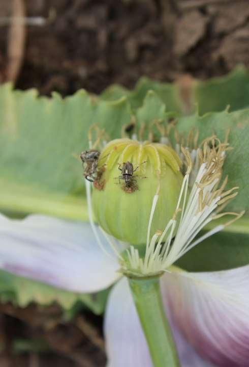
<path id="1" fill-rule="evenodd" d="M 210 113 L 202 117 L 194 115 L 181 117 L 177 122 L 177 129 L 184 135 L 191 129 L 198 129 L 199 140 L 215 134 L 222 141 L 228 130 L 229 144 L 233 150 L 227 152 L 224 165 L 224 176 L 228 175 L 228 189 L 238 186 L 238 195 L 228 204 L 228 211 L 249 210 L 249 109 L 232 113 L 227 111 Z"/>

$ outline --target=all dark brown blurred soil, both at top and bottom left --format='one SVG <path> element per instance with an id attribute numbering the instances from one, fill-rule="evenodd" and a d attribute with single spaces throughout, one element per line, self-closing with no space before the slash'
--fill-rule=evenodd
<path id="1" fill-rule="evenodd" d="M 43 95 L 249 66 L 248 0 L 1 0 L 0 82 Z M 0 305 L 1 367 L 102 367 L 102 318 Z"/>

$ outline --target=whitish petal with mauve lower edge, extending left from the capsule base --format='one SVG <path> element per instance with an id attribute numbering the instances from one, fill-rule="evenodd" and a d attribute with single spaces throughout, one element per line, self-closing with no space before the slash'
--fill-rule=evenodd
<path id="1" fill-rule="evenodd" d="M 120 276 L 116 257 L 100 237 L 109 255 L 97 245 L 89 223 L 0 215 L 0 268 L 70 291 L 97 292 Z"/>

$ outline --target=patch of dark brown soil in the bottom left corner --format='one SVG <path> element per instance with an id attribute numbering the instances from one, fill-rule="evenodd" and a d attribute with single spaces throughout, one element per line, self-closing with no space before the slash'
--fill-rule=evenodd
<path id="1" fill-rule="evenodd" d="M 58 306 L 0 305 L 1 367 L 104 367 L 102 318 L 80 312 L 65 322 Z"/>

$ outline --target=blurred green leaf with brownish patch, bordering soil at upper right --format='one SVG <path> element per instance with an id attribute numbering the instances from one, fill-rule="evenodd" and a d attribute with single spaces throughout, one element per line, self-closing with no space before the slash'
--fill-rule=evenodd
<path id="1" fill-rule="evenodd" d="M 228 75 L 214 77 L 206 81 L 183 77 L 175 83 L 161 83 L 142 77 L 134 90 L 119 85 L 107 88 L 101 95 L 106 100 L 116 100 L 122 96 L 128 98 L 134 110 L 141 107 L 148 91 L 165 103 L 167 111 L 182 115 L 223 111 L 230 106 L 230 111 L 249 107 L 249 73 L 243 66 L 238 66 Z"/>

